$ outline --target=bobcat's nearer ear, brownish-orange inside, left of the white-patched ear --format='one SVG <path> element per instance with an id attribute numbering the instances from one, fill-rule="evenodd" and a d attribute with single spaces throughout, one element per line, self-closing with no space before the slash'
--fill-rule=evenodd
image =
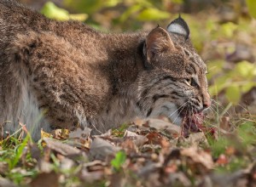
<path id="1" fill-rule="evenodd" d="M 174 48 L 169 33 L 163 28 L 157 27 L 148 34 L 143 50 L 147 56 L 148 63 L 150 63 L 155 57 Z"/>

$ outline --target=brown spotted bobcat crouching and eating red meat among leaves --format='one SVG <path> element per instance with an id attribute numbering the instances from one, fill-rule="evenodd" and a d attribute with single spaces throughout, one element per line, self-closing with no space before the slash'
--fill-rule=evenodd
<path id="1" fill-rule="evenodd" d="M 136 117 L 180 125 L 211 105 L 206 65 L 181 17 L 166 30 L 107 34 L 1 0 L 0 65 L 3 133 L 22 123 L 33 139 L 41 128 L 103 133 Z"/>

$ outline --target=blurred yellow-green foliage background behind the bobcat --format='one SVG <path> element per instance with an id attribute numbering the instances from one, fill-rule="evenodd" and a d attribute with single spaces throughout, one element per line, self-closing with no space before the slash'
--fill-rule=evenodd
<path id="1" fill-rule="evenodd" d="M 207 63 L 212 113 L 256 114 L 255 0 L 20 0 L 55 20 L 104 32 L 165 27 L 180 13 Z"/>

